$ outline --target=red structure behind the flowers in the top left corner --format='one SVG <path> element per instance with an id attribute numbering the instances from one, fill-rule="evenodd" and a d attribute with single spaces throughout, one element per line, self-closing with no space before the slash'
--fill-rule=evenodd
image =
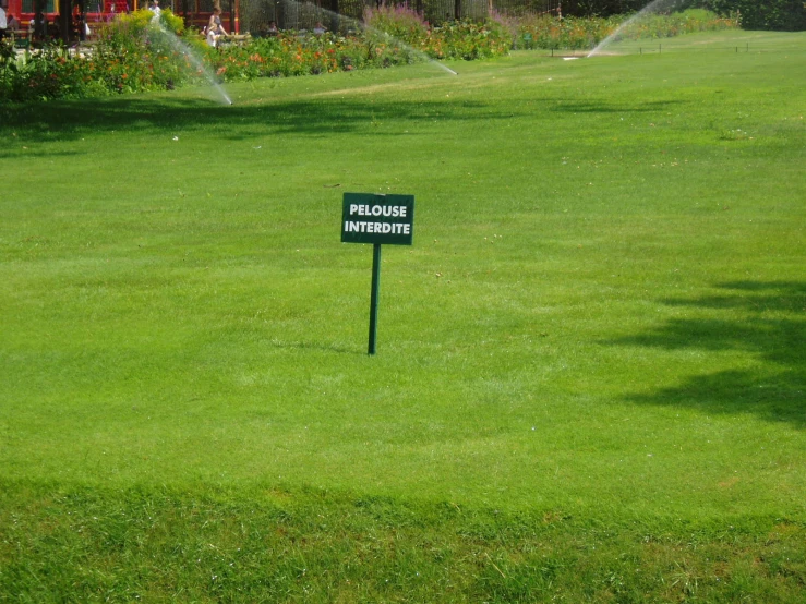
<path id="1" fill-rule="evenodd" d="M 184 19 L 185 25 L 194 25 L 200 29 L 207 25 L 209 15 L 218 2 L 216 0 L 160 0 L 161 9 L 169 9 Z M 83 21 L 91 32 L 97 31 L 98 24 L 109 23 L 116 15 L 146 9 L 149 0 L 8 0 L 7 12 L 20 21 L 21 35 L 34 33 L 34 17 L 37 9 L 41 9 L 48 27 L 46 34 L 38 37 L 62 38 L 65 41 L 83 38 L 79 23 Z M 228 31 L 239 34 L 240 0 L 221 2 L 221 21 L 228 23 Z M 95 24 L 95 26 L 94 26 Z M 65 36 L 63 32 L 68 32 Z"/>

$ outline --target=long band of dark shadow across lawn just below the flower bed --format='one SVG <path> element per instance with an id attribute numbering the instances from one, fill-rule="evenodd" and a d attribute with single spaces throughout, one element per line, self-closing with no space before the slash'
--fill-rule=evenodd
<path id="1" fill-rule="evenodd" d="M 267 90 L 267 95 L 270 92 Z M 623 104 L 543 98 L 548 111 L 612 113 L 662 111 L 669 102 Z M 0 107 L 0 136 L 25 143 L 70 141 L 87 133 L 215 131 L 216 136 L 246 140 L 266 134 L 293 133 L 315 137 L 353 132 L 377 122 L 506 121 L 532 116 L 516 104 L 348 98 L 323 96 L 294 100 L 246 100 L 225 106 L 204 98 L 136 96 L 60 100 Z M 377 134 L 377 133 L 375 133 Z M 394 134 L 394 133 L 393 133 Z M 9 155 L 10 149 L 0 154 Z"/>

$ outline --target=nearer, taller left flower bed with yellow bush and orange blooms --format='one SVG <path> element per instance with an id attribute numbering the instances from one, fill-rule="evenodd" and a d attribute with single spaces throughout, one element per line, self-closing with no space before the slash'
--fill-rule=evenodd
<path id="1" fill-rule="evenodd" d="M 178 37 L 180 21 L 163 11 L 160 27 L 149 11 L 139 11 L 105 28 L 87 57 L 52 47 L 26 56 L 17 64 L 9 55 L 2 63 L 0 94 L 12 100 L 81 98 L 173 88 L 203 82 L 213 74 L 234 82 L 388 68 L 429 58 L 473 60 L 505 55 L 510 44 L 506 32 L 495 23 L 460 22 L 434 31 L 408 32 L 402 41 L 370 27 L 360 36 L 347 37 L 301 37 L 290 32 L 216 50 L 196 32 Z M 375 24 L 398 31 L 390 20 Z"/>

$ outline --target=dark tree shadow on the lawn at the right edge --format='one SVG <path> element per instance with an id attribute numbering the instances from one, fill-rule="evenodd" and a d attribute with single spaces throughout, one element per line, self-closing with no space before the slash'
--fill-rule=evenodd
<path id="1" fill-rule="evenodd" d="M 753 413 L 806 427 L 806 283 L 735 281 L 718 287 L 725 293 L 662 302 L 723 310 L 730 318 L 671 319 L 651 333 L 611 343 L 746 351 L 756 357 L 757 366 L 691 375 L 678 386 L 634 395 L 629 400 L 708 413 Z"/>

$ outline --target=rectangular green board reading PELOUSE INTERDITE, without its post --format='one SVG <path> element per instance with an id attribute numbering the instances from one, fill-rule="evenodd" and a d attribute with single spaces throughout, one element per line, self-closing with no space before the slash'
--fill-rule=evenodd
<path id="1" fill-rule="evenodd" d="M 345 193 L 342 243 L 411 245 L 413 234 L 413 195 Z"/>

